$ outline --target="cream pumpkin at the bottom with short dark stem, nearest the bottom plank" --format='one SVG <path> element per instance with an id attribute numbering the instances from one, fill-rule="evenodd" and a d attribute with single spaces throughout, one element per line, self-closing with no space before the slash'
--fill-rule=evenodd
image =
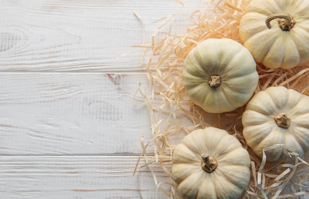
<path id="1" fill-rule="evenodd" d="M 183 199 L 237 199 L 250 180 L 250 157 L 225 130 L 207 127 L 176 146 L 172 177 Z"/>

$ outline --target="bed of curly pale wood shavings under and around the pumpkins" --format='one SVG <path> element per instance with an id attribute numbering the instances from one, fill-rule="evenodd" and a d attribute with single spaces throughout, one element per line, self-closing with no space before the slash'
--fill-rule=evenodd
<path id="1" fill-rule="evenodd" d="M 301 159 L 291 151 L 290 155 L 294 157 L 294 161 L 288 164 L 268 162 L 266 156 L 263 159 L 257 157 L 242 135 L 241 115 L 245 106 L 229 113 L 207 113 L 191 102 L 182 85 L 183 62 L 197 43 L 207 38 L 232 38 L 240 42 L 239 21 L 249 2 L 250 0 L 209 0 L 204 9 L 192 12 L 190 19 L 193 26 L 188 27 L 184 35 L 174 33 L 177 24 L 177 21 L 173 20 L 174 14 L 163 17 L 165 22 L 153 34 L 152 43 L 142 46 L 143 58 L 146 60 L 142 64 L 147 67 L 151 93 L 143 90 L 142 85 L 138 92 L 146 99 L 153 139 L 147 144 L 142 140 L 142 152 L 134 173 L 142 167 L 148 167 L 157 189 L 172 199 L 178 198 L 177 185 L 158 182 L 152 165 L 159 164 L 166 176 L 172 180 L 171 160 L 175 146 L 186 134 L 209 126 L 225 129 L 249 152 L 251 181 L 243 192 L 242 199 L 287 199 L 309 193 L 309 155 Z M 160 37 L 160 30 L 168 25 L 168 34 Z M 309 96 L 308 66 L 309 63 L 284 70 L 270 69 L 257 64 L 259 84 L 255 94 L 270 86 L 285 86 Z M 265 151 L 274 147 L 278 146 L 268 147 Z M 144 159 L 146 164 L 139 166 L 141 159 Z M 162 184 L 169 187 L 163 189 Z"/>

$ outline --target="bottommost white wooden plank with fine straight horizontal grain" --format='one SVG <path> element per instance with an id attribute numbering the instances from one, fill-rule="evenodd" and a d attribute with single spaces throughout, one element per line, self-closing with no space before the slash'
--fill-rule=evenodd
<path id="1" fill-rule="evenodd" d="M 0 195 L 5 199 L 154 199 L 152 174 L 133 176 L 137 156 L 0 156 Z M 158 165 L 159 182 L 170 181 Z M 157 198 L 167 198 L 157 192 Z"/>

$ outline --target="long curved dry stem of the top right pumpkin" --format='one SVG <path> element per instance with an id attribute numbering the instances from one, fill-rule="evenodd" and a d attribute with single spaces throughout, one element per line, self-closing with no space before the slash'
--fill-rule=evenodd
<path id="1" fill-rule="evenodd" d="M 270 22 L 274 19 L 279 19 L 278 24 L 282 31 L 290 31 L 295 25 L 295 21 L 291 15 L 279 13 L 272 14 L 266 18 L 265 23 L 267 28 L 271 29 Z"/>

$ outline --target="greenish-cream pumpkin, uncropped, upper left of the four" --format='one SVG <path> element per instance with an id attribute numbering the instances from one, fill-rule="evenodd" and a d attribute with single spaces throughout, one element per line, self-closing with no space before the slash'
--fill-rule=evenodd
<path id="1" fill-rule="evenodd" d="M 182 76 L 190 99 L 210 113 L 244 105 L 259 80 L 250 52 L 229 38 L 210 38 L 197 44 L 185 60 Z"/>

